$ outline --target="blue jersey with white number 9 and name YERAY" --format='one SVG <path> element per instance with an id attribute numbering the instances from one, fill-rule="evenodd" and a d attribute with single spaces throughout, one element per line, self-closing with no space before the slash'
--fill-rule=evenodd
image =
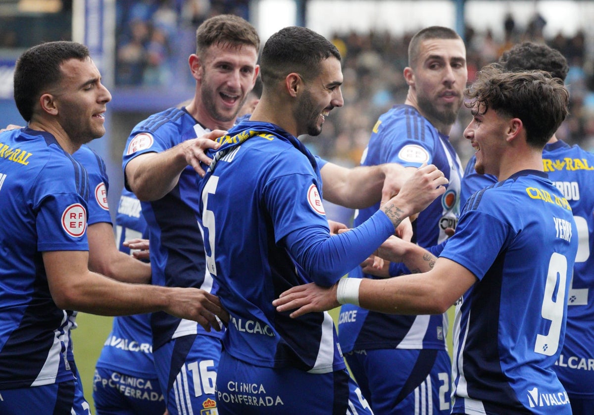
<path id="1" fill-rule="evenodd" d="M 456 304 L 453 413 L 571 413 L 552 367 L 577 245 L 545 173 L 520 171 L 467 200 L 440 255 L 478 279 Z"/>

